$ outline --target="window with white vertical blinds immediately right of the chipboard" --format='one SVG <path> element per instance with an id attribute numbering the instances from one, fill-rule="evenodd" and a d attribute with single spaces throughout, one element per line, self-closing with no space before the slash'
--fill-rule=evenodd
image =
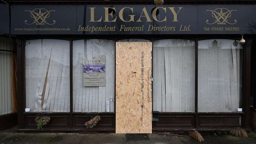
<path id="1" fill-rule="evenodd" d="M 153 110 L 195 109 L 195 41 L 153 42 Z"/>

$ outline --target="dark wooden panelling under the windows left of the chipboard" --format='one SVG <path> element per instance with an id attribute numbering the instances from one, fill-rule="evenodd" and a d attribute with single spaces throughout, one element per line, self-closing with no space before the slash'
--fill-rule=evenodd
<path id="1" fill-rule="evenodd" d="M 38 131 L 36 130 L 36 118 L 37 113 L 25 113 L 25 127 L 19 129 L 18 131 Z M 99 115 L 101 117 L 100 122 L 92 129 L 87 129 L 84 123 L 89 121 L 92 116 Z M 86 131 L 107 131 L 115 132 L 115 113 L 49 113 L 51 118 L 49 124 L 43 126 L 42 131 L 52 131 L 52 132 L 86 132 Z M 69 125 L 71 124 L 71 125 Z"/>

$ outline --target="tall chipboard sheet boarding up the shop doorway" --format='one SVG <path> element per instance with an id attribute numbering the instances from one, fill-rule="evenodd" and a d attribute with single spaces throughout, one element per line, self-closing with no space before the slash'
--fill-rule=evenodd
<path id="1" fill-rule="evenodd" d="M 116 43 L 116 133 L 152 133 L 152 43 Z"/>

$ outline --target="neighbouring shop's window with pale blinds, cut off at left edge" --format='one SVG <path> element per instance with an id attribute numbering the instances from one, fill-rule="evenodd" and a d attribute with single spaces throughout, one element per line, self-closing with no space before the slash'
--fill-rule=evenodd
<path id="1" fill-rule="evenodd" d="M 10 114 L 14 110 L 12 108 L 12 100 L 14 100 L 12 96 L 15 94 L 12 92 L 12 70 L 14 70 L 12 48 L 11 39 L 0 37 L 0 115 Z"/>

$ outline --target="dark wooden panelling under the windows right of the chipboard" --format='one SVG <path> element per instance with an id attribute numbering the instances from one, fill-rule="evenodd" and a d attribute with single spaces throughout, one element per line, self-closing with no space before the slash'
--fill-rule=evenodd
<path id="1" fill-rule="evenodd" d="M 153 122 L 153 131 L 228 131 L 243 127 L 243 116 L 244 113 L 159 113 L 159 121 Z"/>

